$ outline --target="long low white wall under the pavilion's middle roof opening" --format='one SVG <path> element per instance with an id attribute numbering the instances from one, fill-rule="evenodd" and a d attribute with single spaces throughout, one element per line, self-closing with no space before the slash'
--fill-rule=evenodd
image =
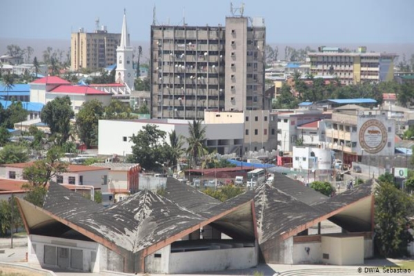
<path id="1" fill-rule="evenodd" d="M 170 253 L 168 273 L 194 273 L 257 266 L 257 248 L 229 248 Z"/>

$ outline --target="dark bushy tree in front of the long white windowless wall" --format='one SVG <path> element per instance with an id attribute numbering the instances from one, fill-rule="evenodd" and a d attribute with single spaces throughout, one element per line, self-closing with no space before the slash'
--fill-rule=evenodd
<path id="1" fill-rule="evenodd" d="M 130 141 L 132 155 L 128 156 L 128 161 L 139 163 L 141 167 L 148 169 L 160 168 L 159 164 L 166 164 L 168 161 L 168 149 L 166 144 L 166 132 L 159 130 L 158 126 L 148 124 L 137 135 L 132 135 Z"/>

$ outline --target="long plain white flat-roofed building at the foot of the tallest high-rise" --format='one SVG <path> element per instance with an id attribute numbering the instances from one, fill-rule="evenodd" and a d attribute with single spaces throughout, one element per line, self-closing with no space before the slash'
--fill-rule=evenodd
<path id="1" fill-rule="evenodd" d="M 140 119 L 140 120 L 99 120 L 99 155 L 119 156 L 132 154 L 130 141 L 132 135 L 137 135 L 144 126 L 153 124 L 159 130 L 168 132 L 175 130 L 177 135 L 188 137 L 187 120 L 178 119 Z M 206 126 L 208 148 L 217 150 L 220 154 L 239 152 L 243 146 L 244 124 L 203 124 Z M 184 144 L 184 148 L 186 144 Z"/>

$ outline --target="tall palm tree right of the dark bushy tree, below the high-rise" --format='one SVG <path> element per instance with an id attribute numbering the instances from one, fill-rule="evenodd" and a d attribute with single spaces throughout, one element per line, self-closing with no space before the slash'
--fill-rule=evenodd
<path id="1" fill-rule="evenodd" d="M 206 142 L 206 127 L 201 125 L 201 121 L 193 121 L 188 123 L 189 137 L 187 139 L 188 148 L 186 153 L 188 159 L 193 166 L 197 166 L 199 158 L 203 156 L 207 150 L 204 146 Z"/>

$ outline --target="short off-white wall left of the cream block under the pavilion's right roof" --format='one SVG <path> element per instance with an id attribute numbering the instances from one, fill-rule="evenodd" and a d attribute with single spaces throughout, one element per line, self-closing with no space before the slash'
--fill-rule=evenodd
<path id="1" fill-rule="evenodd" d="M 309 248 L 307 253 L 306 249 Z M 293 244 L 293 264 L 315 264 L 322 261 L 322 244 L 304 242 Z"/>

